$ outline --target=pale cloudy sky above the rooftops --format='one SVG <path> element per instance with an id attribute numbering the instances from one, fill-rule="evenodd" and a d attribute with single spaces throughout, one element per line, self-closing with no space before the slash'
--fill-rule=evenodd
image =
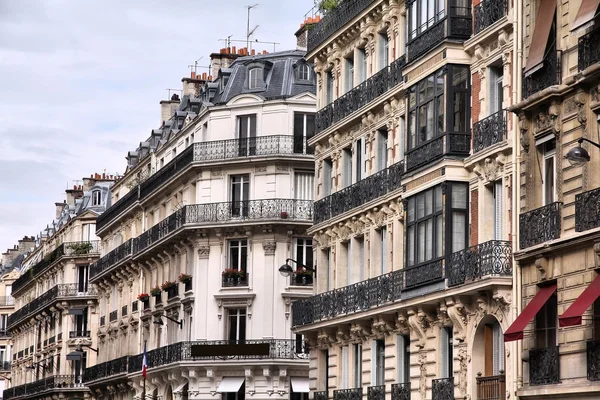
<path id="1" fill-rule="evenodd" d="M 219 39 L 245 40 L 256 3 L 253 39 L 294 49 L 314 0 L 0 0 L 0 252 L 37 235 L 82 177 L 122 174 L 166 89 Z"/>

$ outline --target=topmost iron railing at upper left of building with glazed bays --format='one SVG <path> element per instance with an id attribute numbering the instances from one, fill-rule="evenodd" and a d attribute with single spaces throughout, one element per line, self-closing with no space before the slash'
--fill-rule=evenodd
<path id="1" fill-rule="evenodd" d="M 337 30 L 364 11 L 372 0 L 344 0 L 323 17 L 323 19 L 308 31 L 307 48 L 310 53 L 317 46 L 333 36 Z"/>

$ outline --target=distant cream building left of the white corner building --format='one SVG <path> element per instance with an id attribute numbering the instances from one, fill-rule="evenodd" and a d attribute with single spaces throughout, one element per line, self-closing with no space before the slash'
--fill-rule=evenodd
<path id="1" fill-rule="evenodd" d="M 3 399 L 89 394 L 82 376 L 86 365 L 95 363 L 91 332 L 98 324 L 89 265 L 100 257 L 95 222 L 114 180 L 95 174 L 67 190 L 18 275 L 11 273 L 14 312 L 6 320 L 12 337 L 11 387 L 4 389 Z"/>

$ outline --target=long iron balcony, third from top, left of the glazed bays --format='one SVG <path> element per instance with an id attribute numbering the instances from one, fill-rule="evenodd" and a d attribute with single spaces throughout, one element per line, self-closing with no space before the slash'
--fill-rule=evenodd
<path id="1" fill-rule="evenodd" d="M 401 187 L 404 161 L 361 179 L 314 203 L 315 224 L 360 207 Z"/>

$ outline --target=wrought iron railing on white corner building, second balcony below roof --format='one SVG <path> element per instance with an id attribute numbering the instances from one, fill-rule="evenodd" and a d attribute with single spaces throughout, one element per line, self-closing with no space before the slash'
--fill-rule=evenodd
<path id="1" fill-rule="evenodd" d="M 133 254 L 139 254 L 186 224 L 245 220 L 312 221 L 312 201 L 263 199 L 187 205 L 133 239 Z"/>

